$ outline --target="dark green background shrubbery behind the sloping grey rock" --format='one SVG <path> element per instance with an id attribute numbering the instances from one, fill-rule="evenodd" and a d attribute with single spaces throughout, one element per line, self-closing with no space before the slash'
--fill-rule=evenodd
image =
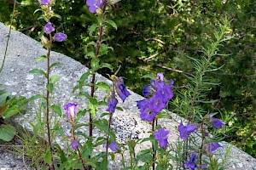
<path id="1" fill-rule="evenodd" d="M 14 0 L 0 0 L 0 21 L 9 26 Z M 36 0 L 17 0 L 13 28 L 35 39 L 44 22 L 38 20 Z M 220 82 L 207 95 L 218 99 L 207 105 L 211 112 L 230 116 L 226 122 L 232 128 L 224 140 L 238 145 L 256 157 L 256 3 L 254 0 L 122 0 L 108 10 L 108 18 L 116 22 L 118 30 L 108 29 L 108 45 L 113 47 L 102 61 L 122 65 L 120 76 L 131 90 L 141 94 L 148 73 L 164 72 L 175 81 L 176 89 L 186 87 L 193 70 L 189 57 L 201 58 L 201 47 L 210 40 L 218 21 L 230 20 L 231 40 L 223 42 L 215 57 L 220 71 L 208 75 Z M 57 31 L 64 31 L 68 40 L 55 43 L 53 50 L 67 54 L 84 65 L 86 44 L 90 42 L 88 28 L 96 23 L 83 1 L 56 1 L 55 13 L 62 19 L 51 20 Z M 61 23 L 61 24 L 58 24 Z M 102 74 L 106 75 L 107 70 Z"/>

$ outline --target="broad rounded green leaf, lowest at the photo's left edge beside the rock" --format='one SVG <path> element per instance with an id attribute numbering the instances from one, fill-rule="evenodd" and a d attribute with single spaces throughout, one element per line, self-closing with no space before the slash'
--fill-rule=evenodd
<path id="1" fill-rule="evenodd" d="M 16 134 L 15 127 L 9 124 L 0 126 L 0 139 L 9 142 L 12 139 L 14 139 L 15 134 Z"/>

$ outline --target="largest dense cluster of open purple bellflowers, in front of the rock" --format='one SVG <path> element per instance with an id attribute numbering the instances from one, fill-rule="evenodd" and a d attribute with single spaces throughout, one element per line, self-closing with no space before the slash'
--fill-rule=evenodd
<path id="1" fill-rule="evenodd" d="M 150 85 L 143 88 L 143 96 L 151 96 L 149 99 L 137 101 L 143 121 L 153 121 L 157 113 L 166 108 L 166 103 L 173 97 L 173 83 L 172 80 L 164 82 L 163 73 L 158 73 L 156 80 L 150 80 Z"/>

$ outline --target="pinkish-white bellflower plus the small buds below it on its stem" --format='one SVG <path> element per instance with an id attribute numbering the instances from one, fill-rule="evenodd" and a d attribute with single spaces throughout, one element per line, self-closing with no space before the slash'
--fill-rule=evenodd
<path id="1" fill-rule="evenodd" d="M 63 108 L 65 111 L 67 111 L 67 114 L 66 114 L 67 121 L 73 124 L 74 120 L 77 117 L 77 104 L 68 103 L 66 105 L 63 105 Z M 75 139 L 73 134 L 67 131 L 67 129 L 64 129 L 63 132 L 65 133 L 67 138 L 72 141 L 71 149 L 76 150 L 79 147 L 79 142 Z"/>

